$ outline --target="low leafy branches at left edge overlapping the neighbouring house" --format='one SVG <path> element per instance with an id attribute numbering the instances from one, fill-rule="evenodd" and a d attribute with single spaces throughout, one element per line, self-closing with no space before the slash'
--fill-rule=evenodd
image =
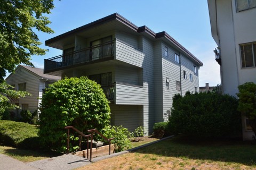
<path id="1" fill-rule="evenodd" d="M 19 99 L 27 95 L 30 95 L 27 91 L 15 91 L 13 87 L 6 82 L 0 83 L 0 120 L 2 120 L 4 112 L 19 108 L 19 106 L 8 102 L 10 97 Z"/>

